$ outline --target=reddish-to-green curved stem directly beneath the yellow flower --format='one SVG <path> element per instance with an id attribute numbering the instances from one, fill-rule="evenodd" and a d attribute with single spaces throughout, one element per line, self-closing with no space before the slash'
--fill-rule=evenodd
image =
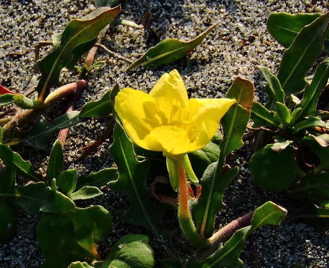
<path id="1" fill-rule="evenodd" d="M 186 173 L 182 160 L 179 160 L 179 207 L 178 219 L 183 233 L 192 245 L 203 248 L 208 245 L 207 240 L 202 239 L 197 233 L 196 226 L 193 222 L 189 208 L 188 188 L 186 181 Z"/>

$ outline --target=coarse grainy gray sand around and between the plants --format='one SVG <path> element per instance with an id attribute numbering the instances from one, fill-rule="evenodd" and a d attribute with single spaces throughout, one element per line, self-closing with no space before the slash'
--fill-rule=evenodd
<path id="1" fill-rule="evenodd" d="M 34 44 L 51 40 L 52 34 L 63 31 L 70 19 L 80 18 L 94 8 L 92 0 L 0 0 L 0 84 L 21 92 L 35 73 Z M 328 9 L 329 3 L 326 0 L 130 0 L 122 18 L 140 23 L 142 14 L 151 12 L 151 26 L 161 40 L 189 40 L 216 21 L 219 20 L 220 23 L 187 59 L 157 69 L 137 68 L 127 73 L 124 71 L 127 63 L 103 52 L 97 53 L 96 59 L 105 60 L 106 66 L 90 75 L 89 88 L 81 94 L 76 107 L 100 98 L 115 83 L 120 87 L 129 86 L 149 91 L 164 72 L 174 68 L 181 73 L 192 97 L 221 97 L 234 78 L 241 75 L 255 83 L 256 99 L 264 102 L 265 96 L 260 90 L 264 81 L 257 65 L 264 65 L 276 72 L 283 52 L 283 48 L 266 32 L 265 22 L 269 13 L 324 13 Z M 130 59 L 137 58 L 152 46 L 152 42 L 146 44 L 143 30 L 121 25 L 111 27 L 102 43 Z M 21 57 L 6 56 L 17 52 L 27 53 Z M 77 77 L 63 73 L 62 79 L 64 84 L 75 81 Z M 55 112 L 59 107 L 55 108 Z M 78 150 L 81 147 L 90 144 L 100 135 L 106 124 L 106 119 L 86 119 L 70 129 L 65 147 L 67 168 L 77 168 L 79 174 L 88 174 L 111 165 L 108 152 L 110 140 L 96 154 L 76 164 L 70 162 L 79 155 Z M 32 159 L 39 172 L 45 172 L 47 156 L 55 138 L 54 136 L 49 141 L 46 152 L 29 147 L 20 149 L 19 152 L 25 159 Z M 248 169 L 250 155 L 251 143 L 234 155 L 235 160 L 231 164 L 235 162 L 239 165 L 240 173 L 225 193 L 226 205 L 218 216 L 218 226 L 268 200 L 277 202 L 288 210 L 294 208 L 293 202 L 256 187 Z M 18 180 L 17 183 L 22 182 Z M 102 240 L 99 248 L 104 255 L 112 243 L 123 235 L 140 233 L 143 230 L 122 222 L 121 216 L 128 207 L 125 196 L 106 188 L 103 191 L 105 195 L 92 202 L 103 205 L 113 216 L 112 231 Z M 43 256 L 35 234 L 39 218 L 40 216 L 29 216 L 20 211 L 17 234 L 10 242 L 0 245 L 0 268 L 40 267 Z M 308 268 L 329 266 L 329 236 L 319 233 L 309 224 L 292 223 L 278 228 L 266 226 L 255 233 L 254 240 L 254 252 L 258 255 L 259 267 L 291 267 L 294 263 Z M 156 245 L 156 241 L 152 243 Z M 184 257 L 191 254 L 188 243 L 180 234 L 174 237 L 174 243 L 182 250 Z M 254 267 L 250 245 L 241 258 L 244 260 L 244 267 Z"/>

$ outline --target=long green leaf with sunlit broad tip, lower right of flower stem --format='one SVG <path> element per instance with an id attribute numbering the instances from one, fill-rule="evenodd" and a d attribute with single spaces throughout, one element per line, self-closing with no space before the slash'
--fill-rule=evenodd
<path id="1" fill-rule="evenodd" d="M 266 202 L 255 210 L 251 225 L 237 230 L 224 244 L 220 244 L 215 253 L 198 263 L 195 257 L 188 260 L 187 268 L 222 268 L 242 267 L 243 262 L 239 258 L 241 251 L 246 247 L 249 235 L 263 225 L 279 225 L 287 211 L 272 203 Z"/>

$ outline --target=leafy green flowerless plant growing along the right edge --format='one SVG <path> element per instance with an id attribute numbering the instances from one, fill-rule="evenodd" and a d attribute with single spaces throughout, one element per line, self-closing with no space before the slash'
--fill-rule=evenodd
<path id="1" fill-rule="evenodd" d="M 328 106 L 318 101 L 328 91 L 329 58 L 317 64 L 313 75 L 307 77 L 307 72 L 319 55 L 326 56 L 328 25 L 329 13 L 269 16 L 269 32 L 288 48 L 276 76 L 260 67 L 268 102 L 254 102 L 251 109 L 254 127 L 263 133 L 250 161 L 256 182 L 309 199 L 312 203 L 291 218 L 313 218 L 314 224 L 321 220 L 321 226 L 324 220 L 329 223 L 329 117 Z"/>

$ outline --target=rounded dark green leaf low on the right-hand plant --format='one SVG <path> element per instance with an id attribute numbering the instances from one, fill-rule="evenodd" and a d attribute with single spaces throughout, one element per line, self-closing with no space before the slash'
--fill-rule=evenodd
<path id="1" fill-rule="evenodd" d="M 250 170 L 255 181 L 264 189 L 286 190 L 296 179 L 299 167 L 291 146 L 280 153 L 266 145 L 250 159 Z"/>

